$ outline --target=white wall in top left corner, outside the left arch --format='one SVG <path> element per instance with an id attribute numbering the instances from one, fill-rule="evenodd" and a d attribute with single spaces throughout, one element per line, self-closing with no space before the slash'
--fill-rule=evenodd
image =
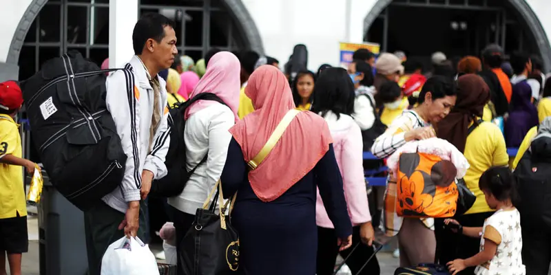
<path id="1" fill-rule="evenodd" d="M 31 0 L 1 0 L 2 16 L 0 17 L 0 62 L 5 63 L 12 44 L 12 38 L 19 21 L 27 10 Z"/>

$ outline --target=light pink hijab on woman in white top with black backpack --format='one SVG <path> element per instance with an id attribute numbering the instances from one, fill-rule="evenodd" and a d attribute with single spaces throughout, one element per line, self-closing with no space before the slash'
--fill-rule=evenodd
<path id="1" fill-rule="evenodd" d="M 239 91 L 241 89 L 240 72 L 241 64 L 238 58 L 231 52 L 219 52 L 215 54 L 209 61 L 209 67 L 207 67 L 205 76 L 199 80 L 189 98 L 193 98 L 201 93 L 216 94 L 233 111 L 237 122 L 239 120 L 237 110 L 239 107 Z M 194 104 L 191 104 L 187 108 L 185 119 L 187 120 L 189 116 L 201 109 L 205 109 L 211 104 L 219 103 L 211 100 L 194 102 Z"/>

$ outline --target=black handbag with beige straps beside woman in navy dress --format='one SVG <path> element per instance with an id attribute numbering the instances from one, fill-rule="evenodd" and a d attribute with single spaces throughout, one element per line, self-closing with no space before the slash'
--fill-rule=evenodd
<path id="1" fill-rule="evenodd" d="M 214 199 L 209 206 L 213 195 Z M 229 213 L 235 197 L 231 199 Z M 236 274 L 239 266 L 239 235 L 231 226 L 231 216 L 228 215 L 226 219 L 222 198 L 222 184 L 218 181 L 203 207 L 197 209 L 194 224 L 182 240 L 180 249 L 183 251 L 178 261 L 183 263 L 187 275 Z"/>

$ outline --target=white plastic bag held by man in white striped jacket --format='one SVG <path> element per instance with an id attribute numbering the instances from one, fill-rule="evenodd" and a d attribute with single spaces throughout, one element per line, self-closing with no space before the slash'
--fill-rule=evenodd
<path id="1" fill-rule="evenodd" d="M 159 275 L 155 256 L 138 238 L 115 241 L 101 259 L 101 275 Z"/>

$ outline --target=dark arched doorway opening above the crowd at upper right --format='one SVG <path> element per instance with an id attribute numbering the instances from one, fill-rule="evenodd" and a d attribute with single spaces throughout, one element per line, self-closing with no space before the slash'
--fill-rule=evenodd
<path id="1" fill-rule="evenodd" d="M 364 39 L 387 52 L 450 57 L 479 56 L 488 43 L 498 43 L 506 53 L 537 54 L 551 69 L 551 45 L 525 0 L 378 0 L 364 19 Z"/>

